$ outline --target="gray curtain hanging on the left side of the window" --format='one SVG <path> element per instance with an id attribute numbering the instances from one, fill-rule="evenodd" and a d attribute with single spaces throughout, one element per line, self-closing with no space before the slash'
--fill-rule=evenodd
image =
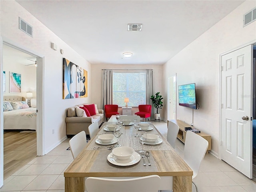
<path id="1" fill-rule="evenodd" d="M 102 82 L 102 109 L 105 105 L 112 104 L 112 70 L 103 70 L 103 82 Z"/>

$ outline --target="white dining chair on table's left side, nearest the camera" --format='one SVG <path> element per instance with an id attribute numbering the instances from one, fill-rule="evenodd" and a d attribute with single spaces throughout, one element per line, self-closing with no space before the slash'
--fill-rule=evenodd
<path id="1" fill-rule="evenodd" d="M 79 132 L 69 140 L 69 147 L 70 147 L 70 151 L 73 156 L 73 159 L 75 159 L 76 156 L 78 156 L 78 154 L 83 150 L 86 144 L 87 144 L 87 141 L 86 141 L 85 131 Z"/>

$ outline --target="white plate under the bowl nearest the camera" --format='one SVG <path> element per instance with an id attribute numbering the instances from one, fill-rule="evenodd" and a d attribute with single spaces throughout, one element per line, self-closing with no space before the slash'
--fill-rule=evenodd
<path id="1" fill-rule="evenodd" d="M 114 156 L 113 153 L 110 153 L 107 157 L 108 161 L 114 165 L 119 165 L 119 166 L 129 166 L 129 165 L 134 165 L 140 161 L 140 154 L 137 152 L 134 152 L 132 156 L 129 159 L 126 160 L 119 160 Z"/>

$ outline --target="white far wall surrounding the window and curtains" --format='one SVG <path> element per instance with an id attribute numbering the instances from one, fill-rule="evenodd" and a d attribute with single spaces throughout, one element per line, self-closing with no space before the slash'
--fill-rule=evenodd
<path id="1" fill-rule="evenodd" d="M 153 69 L 153 94 L 156 92 L 163 93 L 163 83 L 162 83 L 162 74 L 163 66 L 162 65 L 126 65 L 126 64 L 96 64 L 92 65 L 92 102 L 99 106 L 98 108 L 103 108 L 102 106 L 102 69 Z M 165 103 L 166 97 L 164 97 L 163 102 Z M 129 106 L 129 103 L 128 103 Z M 153 113 L 156 112 L 156 109 L 153 107 Z M 122 114 L 122 108 L 119 108 L 118 112 Z M 138 108 L 132 109 L 132 114 L 138 112 Z M 162 115 L 164 108 L 160 109 L 158 112 Z M 162 118 L 162 117 L 161 117 Z"/>

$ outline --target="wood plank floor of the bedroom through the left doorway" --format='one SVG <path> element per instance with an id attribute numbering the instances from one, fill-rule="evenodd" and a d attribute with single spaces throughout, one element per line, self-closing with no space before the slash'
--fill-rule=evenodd
<path id="1" fill-rule="evenodd" d="M 4 131 L 4 179 L 36 157 L 36 133 Z"/>

